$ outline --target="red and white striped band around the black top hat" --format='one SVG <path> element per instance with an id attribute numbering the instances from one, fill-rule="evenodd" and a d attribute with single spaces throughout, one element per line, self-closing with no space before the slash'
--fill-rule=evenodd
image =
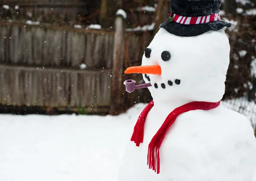
<path id="1" fill-rule="evenodd" d="M 172 17 L 172 21 L 179 24 L 183 24 L 183 25 L 198 25 L 198 24 L 218 21 L 221 19 L 218 13 L 210 14 L 208 16 L 199 16 L 199 17 L 185 17 L 185 16 L 180 16 L 178 14 L 171 13 L 170 16 Z"/>

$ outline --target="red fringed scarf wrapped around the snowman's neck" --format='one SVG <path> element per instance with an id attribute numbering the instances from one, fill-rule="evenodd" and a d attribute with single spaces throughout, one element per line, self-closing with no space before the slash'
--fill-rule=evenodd
<path id="1" fill-rule="evenodd" d="M 220 101 L 217 103 L 210 102 L 191 102 L 184 104 L 183 106 L 177 107 L 174 109 L 163 122 L 160 129 L 152 138 L 151 142 L 148 144 L 148 166 L 149 169 L 154 170 L 157 174 L 160 172 L 160 156 L 159 149 L 163 142 L 163 139 L 172 124 L 175 122 L 178 115 L 192 111 L 192 110 L 210 110 L 218 107 L 220 105 Z M 143 135 L 144 135 L 144 124 L 147 118 L 148 112 L 154 106 L 154 102 L 151 101 L 145 109 L 141 112 L 136 125 L 134 126 L 134 132 L 131 137 L 131 141 L 136 143 L 136 146 L 139 147 L 140 143 L 143 143 Z M 156 152 L 156 154 L 155 154 Z"/>

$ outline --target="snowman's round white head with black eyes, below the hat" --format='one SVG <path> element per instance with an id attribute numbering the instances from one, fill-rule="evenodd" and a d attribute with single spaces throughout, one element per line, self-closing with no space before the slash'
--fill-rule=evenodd
<path id="1" fill-rule="evenodd" d="M 223 29 L 180 37 L 161 28 L 145 50 L 140 73 L 151 83 L 148 89 L 156 101 L 218 102 L 225 91 L 229 54 Z"/>

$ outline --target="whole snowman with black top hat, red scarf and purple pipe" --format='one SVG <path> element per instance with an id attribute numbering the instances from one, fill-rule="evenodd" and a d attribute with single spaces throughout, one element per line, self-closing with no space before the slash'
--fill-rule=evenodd
<path id="1" fill-rule="evenodd" d="M 256 140 L 244 115 L 221 105 L 230 45 L 221 0 L 171 0 L 169 20 L 145 50 L 153 101 L 131 130 L 119 181 L 253 181 Z M 255 178 L 254 178 L 255 179 Z"/>

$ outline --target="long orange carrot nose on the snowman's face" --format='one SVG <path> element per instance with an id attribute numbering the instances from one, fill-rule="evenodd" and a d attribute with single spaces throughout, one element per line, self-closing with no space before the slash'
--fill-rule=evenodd
<path id="1" fill-rule="evenodd" d="M 131 73 L 161 75 L 162 70 L 161 70 L 161 67 L 158 65 L 131 66 L 125 70 L 125 74 L 131 74 Z"/>

